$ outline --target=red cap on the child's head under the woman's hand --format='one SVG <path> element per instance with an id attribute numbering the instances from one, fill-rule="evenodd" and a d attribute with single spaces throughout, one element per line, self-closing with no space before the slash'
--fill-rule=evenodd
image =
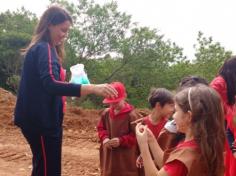
<path id="1" fill-rule="evenodd" d="M 125 86 L 121 82 L 113 82 L 110 84 L 118 92 L 117 97 L 114 98 L 105 98 L 103 103 L 117 103 L 126 98 Z"/>

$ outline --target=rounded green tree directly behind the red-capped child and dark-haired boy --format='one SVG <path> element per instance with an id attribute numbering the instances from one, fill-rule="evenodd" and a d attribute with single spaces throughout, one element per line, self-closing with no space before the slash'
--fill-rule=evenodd
<path id="1" fill-rule="evenodd" d="M 164 41 L 163 35 L 148 27 L 133 28 L 130 37 L 123 40 L 120 53 L 120 65 L 112 72 L 116 74 L 108 78 L 124 82 L 129 100 L 140 107 L 146 105 L 151 87 L 164 87 L 172 79 L 167 72 L 170 66 L 185 59 L 182 48 Z M 173 83 L 166 85 L 173 88 Z"/>

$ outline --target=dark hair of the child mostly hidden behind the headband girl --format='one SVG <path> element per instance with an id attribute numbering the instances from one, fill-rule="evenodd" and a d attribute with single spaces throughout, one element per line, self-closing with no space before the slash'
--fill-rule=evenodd
<path id="1" fill-rule="evenodd" d="M 208 85 L 208 82 L 207 80 L 199 76 L 186 76 L 181 79 L 179 83 L 179 91 L 187 87 L 195 86 L 197 84 Z"/>

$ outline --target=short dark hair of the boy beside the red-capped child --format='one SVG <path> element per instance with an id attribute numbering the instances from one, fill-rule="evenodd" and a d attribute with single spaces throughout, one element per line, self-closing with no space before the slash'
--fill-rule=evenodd
<path id="1" fill-rule="evenodd" d="M 148 96 L 148 102 L 152 108 L 155 107 L 156 103 L 160 103 L 163 107 L 165 104 L 174 103 L 173 94 L 165 88 L 154 88 L 151 89 L 151 92 Z"/>

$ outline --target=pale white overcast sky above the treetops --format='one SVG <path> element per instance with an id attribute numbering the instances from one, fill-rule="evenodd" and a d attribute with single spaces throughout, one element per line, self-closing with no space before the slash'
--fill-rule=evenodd
<path id="1" fill-rule="evenodd" d="M 48 0 L 4 0 L 0 12 L 16 10 L 22 6 L 40 16 Z M 110 0 L 95 0 L 98 3 Z M 194 57 L 193 45 L 198 31 L 213 37 L 226 50 L 236 54 L 235 0 L 116 0 L 118 9 L 132 15 L 139 26 L 156 28 L 164 39 L 170 39 L 184 48 L 189 59 Z"/>

